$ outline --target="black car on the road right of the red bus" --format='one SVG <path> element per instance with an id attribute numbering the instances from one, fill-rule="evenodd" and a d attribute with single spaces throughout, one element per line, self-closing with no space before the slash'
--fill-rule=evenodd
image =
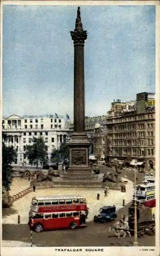
<path id="1" fill-rule="evenodd" d="M 94 222 L 105 223 L 107 221 L 112 221 L 117 218 L 116 207 L 113 206 L 103 206 L 100 208 L 100 214 L 94 216 Z"/>

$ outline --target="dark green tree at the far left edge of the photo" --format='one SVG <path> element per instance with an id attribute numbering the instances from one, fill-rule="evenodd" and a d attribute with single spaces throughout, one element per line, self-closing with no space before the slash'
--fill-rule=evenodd
<path id="1" fill-rule="evenodd" d="M 3 136 L 4 138 L 4 136 Z M 12 162 L 15 162 L 17 153 L 13 146 L 6 146 L 5 142 L 2 142 L 2 185 L 5 190 L 9 191 L 12 183 L 13 168 Z"/>

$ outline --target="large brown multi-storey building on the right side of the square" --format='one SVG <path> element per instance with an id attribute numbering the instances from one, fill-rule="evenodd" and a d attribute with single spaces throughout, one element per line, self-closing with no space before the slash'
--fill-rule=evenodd
<path id="1" fill-rule="evenodd" d="M 107 127 L 105 156 L 143 161 L 147 168 L 155 166 L 155 95 L 140 93 L 136 102 L 124 104 L 119 111 L 110 111 Z M 131 103 L 131 104 L 130 104 Z M 130 105 L 131 106 L 130 106 Z M 112 108 L 111 108 L 112 109 Z"/>

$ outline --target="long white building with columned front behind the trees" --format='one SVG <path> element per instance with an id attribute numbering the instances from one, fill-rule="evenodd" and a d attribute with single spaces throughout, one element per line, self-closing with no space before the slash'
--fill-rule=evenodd
<path id="1" fill-rule="evenodd" d="M 7 135 L 7 146 L 13 146 L 17 152 L 17 164 L 26 163 L 26 145 L 32 145 L 32 138 L 42 136 L 48 146 L 48 161 L 53 147 L 58 149 L 68 140 L 69 123 L 64 116 L 39 115 L 3 118 L 3 132 Z"/>

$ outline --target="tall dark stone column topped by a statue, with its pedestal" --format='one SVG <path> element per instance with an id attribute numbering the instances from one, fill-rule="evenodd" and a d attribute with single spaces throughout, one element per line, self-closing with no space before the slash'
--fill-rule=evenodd
<path id="1" fill-rule="evenodd" d="M 80 7 L 77 10 L 75 30 L 71 31 L 74 42 L 74 133 L 70 146 L 70 167 L 63 178 L 76 186 L 100 186 L 89 167 L 88 147 L 90 142 L 85 133 L 84 114 L 84 41 L 87 32 L 83 30 Z M 99 183 L 99 185 L 98 185 Z"/>

